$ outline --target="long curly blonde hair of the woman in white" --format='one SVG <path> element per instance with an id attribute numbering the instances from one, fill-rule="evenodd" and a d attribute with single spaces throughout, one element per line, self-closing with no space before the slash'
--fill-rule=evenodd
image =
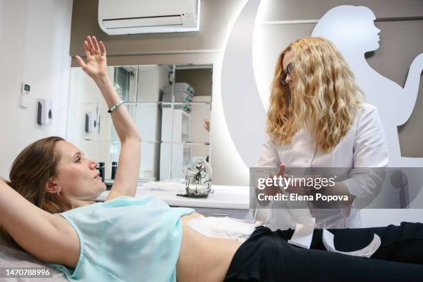
<path id="1" fill-rule="evenodd" d="M 288 51 L 294 54 L 292 93 L 280 81 Z M 353 71 L 332 42 L 323 37 L 298 39 L 276 62 L 266 132 L 276 144 L 289 144 L 305 127 L 323 151 L 332 151 L 350 129 L 363 101 Z"/>

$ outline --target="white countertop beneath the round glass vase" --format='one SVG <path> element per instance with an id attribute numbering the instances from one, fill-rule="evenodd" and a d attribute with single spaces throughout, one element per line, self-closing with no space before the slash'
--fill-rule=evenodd
<path id="1" fill-rule="evenodd" d="M 175 207 L 208 207 L 215 209 L 250 209 L 250 188 L 247 186 L 212 185 L 213 194 L 207 198 L 187 198 L 176 196 L 185 194 L 185 191 L 157 191 L 137 188 L 135 198 L 142 196 L 157 196 L 167 205 Z M 109 190 L 110 191 L 110 190 Z M 97 200 L 105 200 L 109 191 L 104 191 Z"/>

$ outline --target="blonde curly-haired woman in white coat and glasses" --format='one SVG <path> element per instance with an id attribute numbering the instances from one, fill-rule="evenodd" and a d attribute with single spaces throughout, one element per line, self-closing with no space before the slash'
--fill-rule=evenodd
<path id="1" fill-rule="evenodd" d="M 299 39 L 279 55 L 266 132 L 258 167 L 282 165 L 282 171 L 285 167 L 351 169 L 349 179 L 320 190 L 348 196 L 350 205 L 374 198 L 382 185 L 381 178 L 366 178 L 357 171 L 359 167 L 380 168 L 388 164 L 377 109 L 364 102 L 364 93 L 346 60 L 327 39 Z M 369 185 L 370 182 L 377 185 Z M 319 227 L 360 226 L 355 210 L 317 209 L 312 216 Z M 271 226 L 287 227 L 276 218 L 270 219 Z"/>

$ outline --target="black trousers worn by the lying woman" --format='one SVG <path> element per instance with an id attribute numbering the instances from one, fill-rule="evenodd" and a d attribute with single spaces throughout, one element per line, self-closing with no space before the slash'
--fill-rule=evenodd
<path id="1" fill-rule="evenodd" d="M 370 259 L 327 252 L 322 230 L 314 230 L 310 249 L 287 243 L 294 230 L 259 226 L 238 248 L 225 282 L 267 281 L 423 281 L 423 224 L 329 229 L 337 250 L 359 250 L 379 235 L 382 245 Z"/>

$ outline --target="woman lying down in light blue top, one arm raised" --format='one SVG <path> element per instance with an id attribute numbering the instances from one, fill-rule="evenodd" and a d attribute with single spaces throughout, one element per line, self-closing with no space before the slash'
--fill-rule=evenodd
<path id="1" fill-rule="evenodd" d="M 106 73 L 102 41 L 87 37 L 86 61 L 122 142 L 120 169 L 106 188 L 97 162 L 73 144 L 50 137 L 17 156 L 10 182 L 0 181 L 0 224 L 35 258 L 70 281 L 423 281 L 423 225 L 332 229 L 341 238 L 378 234 L 370 259 L 326 252 L 321 230 L 310 250 L 287 243 L 293 231 L 256 227 L 243 243 L 204 236 L 187 225 L 200 214 L 158 198 L 133 198 L 140 167 L 140 133 Z"/>

